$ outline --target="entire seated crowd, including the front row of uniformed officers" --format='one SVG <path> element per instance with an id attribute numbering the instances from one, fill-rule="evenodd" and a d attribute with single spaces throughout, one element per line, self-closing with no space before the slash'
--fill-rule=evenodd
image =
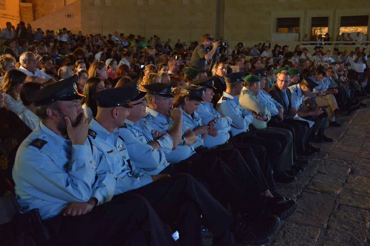
<path id="1" fill-rule="evenodd" d="M 297 207 L 276 185 L 370 92 L 359 47 L 0 37 L 1 194 L 38 208 L 48 245 L 202 245 L 202 226 L 215 246 L 268 243 Z"/>

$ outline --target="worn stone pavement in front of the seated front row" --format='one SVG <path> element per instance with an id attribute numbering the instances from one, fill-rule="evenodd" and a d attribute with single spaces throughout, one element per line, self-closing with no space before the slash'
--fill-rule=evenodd
<path id="1" fill-rule="evenodd" d="M 325 131 L 334 142 L 315 144 L 322 152 L 306 171 L 291 186 L 277 188 L 298 207 L 268 245 L 370 245 L 370 108 L 337 122 L 342 127 Z"/>

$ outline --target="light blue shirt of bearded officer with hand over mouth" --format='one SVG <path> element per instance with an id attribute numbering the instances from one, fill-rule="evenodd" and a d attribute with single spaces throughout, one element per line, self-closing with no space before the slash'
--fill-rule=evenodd
<path id="1" fill-rule="evenodd" d="M 72 145 L 41 122 L 21 143 L 13 168 L 23 211 L 38 208 L 41 217 L 49 219 L 72 202 L 87 202 L 92 197 L 98 204 L 111 200 L 115 180 L 96 168 L 98 162 L 98 150 L 93 146 L 91 152 L 88 139 L 85 145 Z"/>

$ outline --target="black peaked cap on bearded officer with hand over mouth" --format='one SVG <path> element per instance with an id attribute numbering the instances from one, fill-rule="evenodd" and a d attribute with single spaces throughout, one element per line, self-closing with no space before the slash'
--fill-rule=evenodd
<path id="1" fill-rule="evenodd" d="M 54 101 L 73 101 L 84 98 L 85 96 L 77 92 L 78 76 L 74 75 L 67 79 L 59 80 L 57 83 L 49 84 L 26 95 L 28 101 L 35 106 L 42 106 Z"/>

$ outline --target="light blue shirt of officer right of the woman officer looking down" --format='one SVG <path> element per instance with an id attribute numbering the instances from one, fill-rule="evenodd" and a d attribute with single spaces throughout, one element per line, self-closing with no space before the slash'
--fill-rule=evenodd
<path id="1" fill-rule="evenodd" d="M 208 122 L 216 119 L 216 125 L 214 129 L 218 131 L 218 135 L 215 137 L 208 135 L 204 141 L 204 146 L 212 148 L 229 140 L 229 131 L 231 129 L 230 117 L 222 117 L 220 113 L 213 108 L 212 103 L 206 102 L 201 102 L 201 105 L 199 105 L 199 108 L 196 112 L 198 113 L 199 117 L 201 117 L 202 122 L 205 124 L 208 124 Z"/>

